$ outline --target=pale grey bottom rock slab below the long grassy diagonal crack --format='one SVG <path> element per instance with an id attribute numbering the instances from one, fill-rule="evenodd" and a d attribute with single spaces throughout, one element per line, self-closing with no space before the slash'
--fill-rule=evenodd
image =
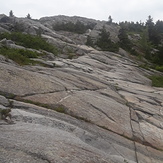
<path id="1" fill-rule="evenodd" d="M 14 101 L 14 108 L 19 108 L 12 110 L 16 124 L 1 125 L 2 163 L 13 160 L 123 163 L 137 159 L 161 163 L 161 151 L 137 143 L 135 156 L 132 141 L 90 123 L 22 102 Z"/>

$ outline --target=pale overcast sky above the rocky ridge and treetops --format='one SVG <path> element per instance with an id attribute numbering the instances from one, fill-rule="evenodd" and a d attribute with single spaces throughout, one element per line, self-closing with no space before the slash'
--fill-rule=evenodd
<path id="1" fill-rule="evenodd" d="M 45 16 L 82 16 L 114 22 L 142 21 L 149 15 L 154 21 L 163 20 L 163 0 L 0 0 L 1 14 L 12 10 L 17 17 L 39 19 Z"/>

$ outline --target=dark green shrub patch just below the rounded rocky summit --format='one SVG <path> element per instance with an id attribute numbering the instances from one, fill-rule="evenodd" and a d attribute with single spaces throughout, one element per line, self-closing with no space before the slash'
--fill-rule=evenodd
<path id="1" fill-rule="evenodd" d="M 84 25 L 80 21 L 77 21 L 76 23 L 67 22 L 67 23 L 57 23 L 53 26 L 53 29 L 56 31 L 69 31 L 74 32 L 78 34 L 85 33 L 88 29 L 93 29 L 95 26 L 95 23 L 91 23 L 88 25 Z"/>

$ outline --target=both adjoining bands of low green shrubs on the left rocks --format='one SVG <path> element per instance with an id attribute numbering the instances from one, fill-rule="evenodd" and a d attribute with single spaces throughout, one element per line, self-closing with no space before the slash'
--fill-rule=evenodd
<path id="1" fill-rule="evenodd" d="M 47 52 L 57 54 L 57 49 L 39 36 L 23 34 L 21 32 L 1 33 L 0 40 L 4 38 L 7 40 L 12 40 L 16 44 L 21 45 L 25 48 L 45 50 Z M 39 56 L 45 55 L 43 51 L 39 53 L 27 49 L 8 48 L 5 45 L 0 47 L 0 54 L 15 61 L 19 65 L 35 64 L 36 61 L 31 60 L 31 58 L 37 58 Z"/>

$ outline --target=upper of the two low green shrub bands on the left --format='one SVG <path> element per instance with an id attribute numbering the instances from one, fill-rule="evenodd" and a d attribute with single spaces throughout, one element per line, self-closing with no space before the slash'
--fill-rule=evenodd
<path id="1" fill-rule="evenodd" d="M 12 32 L 0 34 L 0 40 L 3 38 L 12 40 L 18 45 L 24 46 L 26 48 L 32 48 L 37 50 L 42 49 L 53 54 L 57 53 L 57 49 L 53 45 L 47 43 L 44 39 L 39 36 L 23 34 L 21 32 Z"/>

